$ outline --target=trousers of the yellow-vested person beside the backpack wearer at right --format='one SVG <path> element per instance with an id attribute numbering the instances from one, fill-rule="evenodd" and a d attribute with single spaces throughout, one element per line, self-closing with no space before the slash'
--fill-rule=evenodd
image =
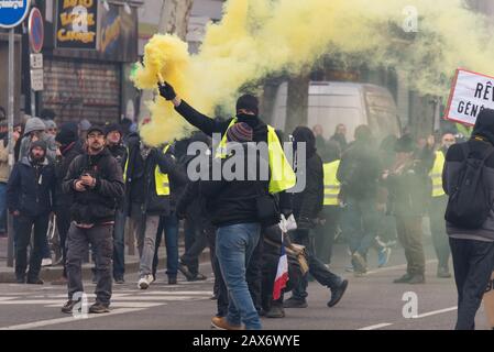
<path id="1" fill-rule="evenodd" d="M 439 267 L 448 267 L 450 248 L 446 233 L 444 211 L 448 197 L 432 197 L 429 208 L 430 232 L 432 234 L 433 249 L 438 257 Z"/>

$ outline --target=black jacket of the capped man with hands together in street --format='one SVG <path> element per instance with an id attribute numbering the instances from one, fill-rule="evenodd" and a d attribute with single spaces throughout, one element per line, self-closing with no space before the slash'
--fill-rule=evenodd
<path id="1" fill-rule="evenodd" d="M 85 173 L 96 178 L 96 186 L 76 191 L 74 184 Z M 117 204 L 123 196 L 122 168 L 108 148 L 98 155 L 78 155 L 68 167 L 62 189 L 74 197 L 70 207 L 74 221 L 95 224 L 113 221 Z"/>

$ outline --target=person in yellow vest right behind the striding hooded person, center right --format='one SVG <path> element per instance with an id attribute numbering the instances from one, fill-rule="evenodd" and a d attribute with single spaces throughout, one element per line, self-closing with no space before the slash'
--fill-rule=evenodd
<path id="1" fill-rule="evenodd" d="M 338 199 L 340 195 L 340 182 L 337 178 L 341 157 L 340 145 L 336 142 L 328 142 L 321 157 L 323 161 L 325 198 L 320 213 L 321 226 L 316 227 L 314 232 L 316 255 L 323 263 L 329 264 L 331 262 L 332 243 L 337 233 L 340 212 Z"/>

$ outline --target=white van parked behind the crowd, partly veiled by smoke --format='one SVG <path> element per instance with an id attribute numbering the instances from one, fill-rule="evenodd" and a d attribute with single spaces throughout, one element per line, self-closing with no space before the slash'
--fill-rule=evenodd
<path id="1" fill-rule="evenodd" d="M 272 123 L 281 130 L 285 128 L 287 90 L 288 85 L 282 84 L 275 98 Z M 320 124 L 323 136 L 329 139 L 339 123 L 347 125 L 349 142 L 361 124 L 369 125 L 378 141 L 389 134 L 399 136 L 400 131 L 396 103 L 386 88 L 369 84 L 311 81 L 308 127 Z"/>

